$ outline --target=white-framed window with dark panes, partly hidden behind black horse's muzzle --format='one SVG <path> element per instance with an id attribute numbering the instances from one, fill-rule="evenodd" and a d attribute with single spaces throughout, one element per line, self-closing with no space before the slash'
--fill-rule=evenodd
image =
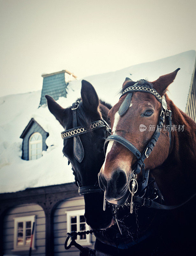
<path id="1" fill-rule="evenodd" d="M 90 230 L 84 218 L 84 210 L 69 211 L 67 213 L 67 232 Z M 77 236 L 76 242 L 82 245 L 91 245 L 91 235 Z"/>

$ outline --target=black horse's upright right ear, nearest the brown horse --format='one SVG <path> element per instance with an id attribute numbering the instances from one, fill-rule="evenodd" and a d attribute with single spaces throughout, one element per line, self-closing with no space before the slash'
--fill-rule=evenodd
<path id="1" fill-rule="evenodd" d="M 99 106 L 99 98 L 92 84 L 86 80 L 82 80 L 81 88 L 82 104 L 85 109 L 96 112 Z"/>

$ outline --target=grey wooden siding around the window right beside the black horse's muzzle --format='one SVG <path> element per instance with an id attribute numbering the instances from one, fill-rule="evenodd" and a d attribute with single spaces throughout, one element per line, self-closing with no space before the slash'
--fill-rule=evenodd
<path id="1" fill-rule="evenodd" d="M 65 251 L 64 243 L 67 237 L 67 211 L 84 209 L 83 196 L 73 197 L 61 202 L 54 211 L 54 256 L 78 256 L 79 251 L 72 246 L 68 251 Z M 91 236 L 91 249 L 94 249 L 95 236 Z M 85 245 L 84 245 L 85 246 Z"/>

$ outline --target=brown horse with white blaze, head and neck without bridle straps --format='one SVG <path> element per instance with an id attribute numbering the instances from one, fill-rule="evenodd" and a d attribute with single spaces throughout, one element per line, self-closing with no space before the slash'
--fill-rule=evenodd
<path id="1" fill-rule="evenodd" d="M 171 131 L 171 144 L 169 132 L 167 129 L 162 129 L 152 153 L 144 160 L 145 168 L 150 169 L 167 205 L 183 203 L 195 193 L 196 188 L 196 124 L 177 108 L 166 94 L 178 70 L 179 68 L 150 83 L 151 88 L 161 96 L 165 96 L 168 110 L 172 111 L 174 129 Z M 135 83 L 126 79 L 122 91 Z M 125 98 L 126 95 L 122 96 L 109 111 L 112 134 L 125 138 L 142 152 L 154 134 L 151 128 L 157 125 L 161 104 L 150 93 L 134 92 L 127 112 L 120 116 L 119 108 Z M 105 190 L 105 198 L 108 202 L 118 205 L 126 202 L 130 195 L 128 186 L 133 177 L 136 160 L 135 155 L 126 147 L 116 141 L 109 141 L 105 162 L 99 173 L 99 184 Z M 142 173 L 137 178 L 139 179 L 141 175 Z M 182 251 L 187 250 L 189 253 L 192 252 L 195 228 L 194 199 L 174 210 L 171 216 L 175 217 L 173 219 L 170 217 L 175 225 L 170 223 L 167 226 L 168 240 L 171 239 L 169 235 L 172 234 L 172 240 L 176 238 L 176 243 L 179 241 Z M 179 252 L 178 255 L 181 255 Z"/>

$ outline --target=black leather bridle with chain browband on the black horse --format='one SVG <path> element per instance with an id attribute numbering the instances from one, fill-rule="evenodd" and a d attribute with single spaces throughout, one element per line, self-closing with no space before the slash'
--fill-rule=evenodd
<path id="1" fill-rule="evenodd" d="M 73 137 L 73 152 L 76 160 L 79 163 L 82 162 L 84 157 L 84 148 L 79 135 L 94 131 L 95 129 L 98 129 L 98 128 L 106 129 L 106 132 L 107 132 L 106 136 L 109 136 L 109 134 L 111 134 L 110 132 L 111 128 L 109 127 L 109 125 L 104 119 L 92 122 L 90 125 L 90 129 L 88 130 L 86 130 L 85 127 L 77 126 L 77 109 L 80 107 L 80 105 L 81 105 L 81 101 L 76 101 L 72 104 L 71 110 L 73 112 L 73 128 L 69 130 L 65 130 L 64 132 L 61 132 L 61 137 L 63 140 Z M 72 170 L 75 176 L 76 185 L 79 187 L 78 188 L 79 195 L 85 195 L 89 193 L 102 191 L 99 185 L 90 185 L 90 186 L 82 187 L 81 182 L 77 179 L 76 171 L 73 168 Z"/>

